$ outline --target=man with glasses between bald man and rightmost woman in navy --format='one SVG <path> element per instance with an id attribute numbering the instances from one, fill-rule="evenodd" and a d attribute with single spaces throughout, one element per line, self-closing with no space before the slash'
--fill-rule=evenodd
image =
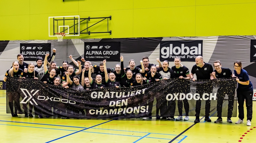
<path id="1" fill-rule="evenodd" d="M 236 77 L 232 71 L 229 68 L 221 67 L 220 61 L 213 62 L 213 66 L 215 70 L 213 71 L 213 78 L 234 78 Z M 233 111 L 233 105 L 234 105 L 234 95 L 235 95 L 235 89 L 229 87 L 232 85 L 232 83 L 228 83 L 227 81 L 219 81 L 221 87 L 219 87 L 217 91 L 217 117 L 218 119 L 214 121 L 214 123 L 221 123 L 221 112 L 222 112 L 222 104 L 223 100 L 225 98 L 225 95 L 228 96 L 228 110 L 227 110 L 227 122 L 232 123 L 231 117 L 232 117 L 232 111 Z M 222 82 L 222 83 L 221 83 Z"/>

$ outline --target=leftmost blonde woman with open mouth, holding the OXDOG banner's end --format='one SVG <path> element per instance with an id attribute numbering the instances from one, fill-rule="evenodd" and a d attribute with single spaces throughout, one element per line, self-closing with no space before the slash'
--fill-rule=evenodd
<path id="1" fill-rule="evenodd" d="M 12 63 L 12 68 L 8 69 L 7 72 L 5 73 L 5 76 L 3 77 L 3 81 L 6 82 L 8 77 L 12 78 L 19 78 L 20 74 L 22 73 L 22 69 L 19 68 L 19 63 L 18 61 L 14 61 Z M 11 110 L 12 117 L 18 117 L 17 115 L 17 110 L 22 113 L 20 109 L 20 95 L 18 94 L 17 91 L 13 90 L 14 88 L 10 88 L 12 92 L 7 92 L 8 95 L 8 104 Z M 13 104 L 14 101 L 14 104 Z M 14 112 L 13 112 L 13 106 L 14 106 Z"/>

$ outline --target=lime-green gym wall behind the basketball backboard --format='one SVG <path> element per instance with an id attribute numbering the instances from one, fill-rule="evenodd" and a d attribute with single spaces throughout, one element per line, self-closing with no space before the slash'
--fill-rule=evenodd
<path id="1" fill-rule="evenodd" d="M 48 17 L 108 17 L 109 33 L 68 38 L 256 35 L 256 0 L 1 0 L 0 40 L 43 40 Z M 91 31 L 106 31 L 105 23 Z M 66 37 L 67 38 L 67 37 Z"/>

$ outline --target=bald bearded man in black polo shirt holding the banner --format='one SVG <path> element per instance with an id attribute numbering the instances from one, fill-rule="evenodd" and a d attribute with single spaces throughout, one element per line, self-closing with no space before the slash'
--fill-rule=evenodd
<path id="1" fill-rule="evenodd" d="M 196 74 L 197 80 L 211 80 L 213 79 L 213 67 L 209 63 L 205 63 L 202 56 L 197 56 L 196 64 L 191 69 L 191 80 L 195 81 L 194 74 Z M 212 82 L 200 83 L 196 82 L 196 93 L 199 93 L 200 98 L 202 99 L 203 93 L 210 94 L 213 91 Z M 200 122 L 200 110 L 201 110 L 201 101 L 196 100 L 196 120 L 194 123 Z M 205 118 L 206 122 L 212 122 L 209 118 L 211 108 L 211 100 L 208 99 L 205 101 Z"/>

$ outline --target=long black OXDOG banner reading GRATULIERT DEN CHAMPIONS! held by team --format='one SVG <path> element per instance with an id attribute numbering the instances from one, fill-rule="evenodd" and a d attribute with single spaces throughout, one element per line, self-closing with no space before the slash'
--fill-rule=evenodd
<path id="1" fill-rule="evenodd" d="M 199 91 L 196 91 L 197 86 L 208 86 L 213 90 L 211 93 L 200 95 Z M 47 85 L 30 78 L 7 78 L 6 99 L 7 113 L 10 113 L 10 99 L 18 97 L 23 113 L 28 112 L 29 103 L 34 105 L 32 114 L 71 118 L 178 116 L 176 102 L 183 100 L 189 103 L 189 116 L 195 116 L 197 100 L 202 103 L 200 116 L 204 116 L 206 100 L 211 101 L 210 116 L 217 116 L 217 100 L 222 99 L 222 116 L 227 116 L 229 101 L 235 101 L 232 103 L 232 116 L 236 116 L 235 90 L 236 80 L 233 78 L 196 82 L 176 78 L 131 88 L 113 87 L 83 91 Z M 227 95 L 228 93 L 231 94 Z"/>

